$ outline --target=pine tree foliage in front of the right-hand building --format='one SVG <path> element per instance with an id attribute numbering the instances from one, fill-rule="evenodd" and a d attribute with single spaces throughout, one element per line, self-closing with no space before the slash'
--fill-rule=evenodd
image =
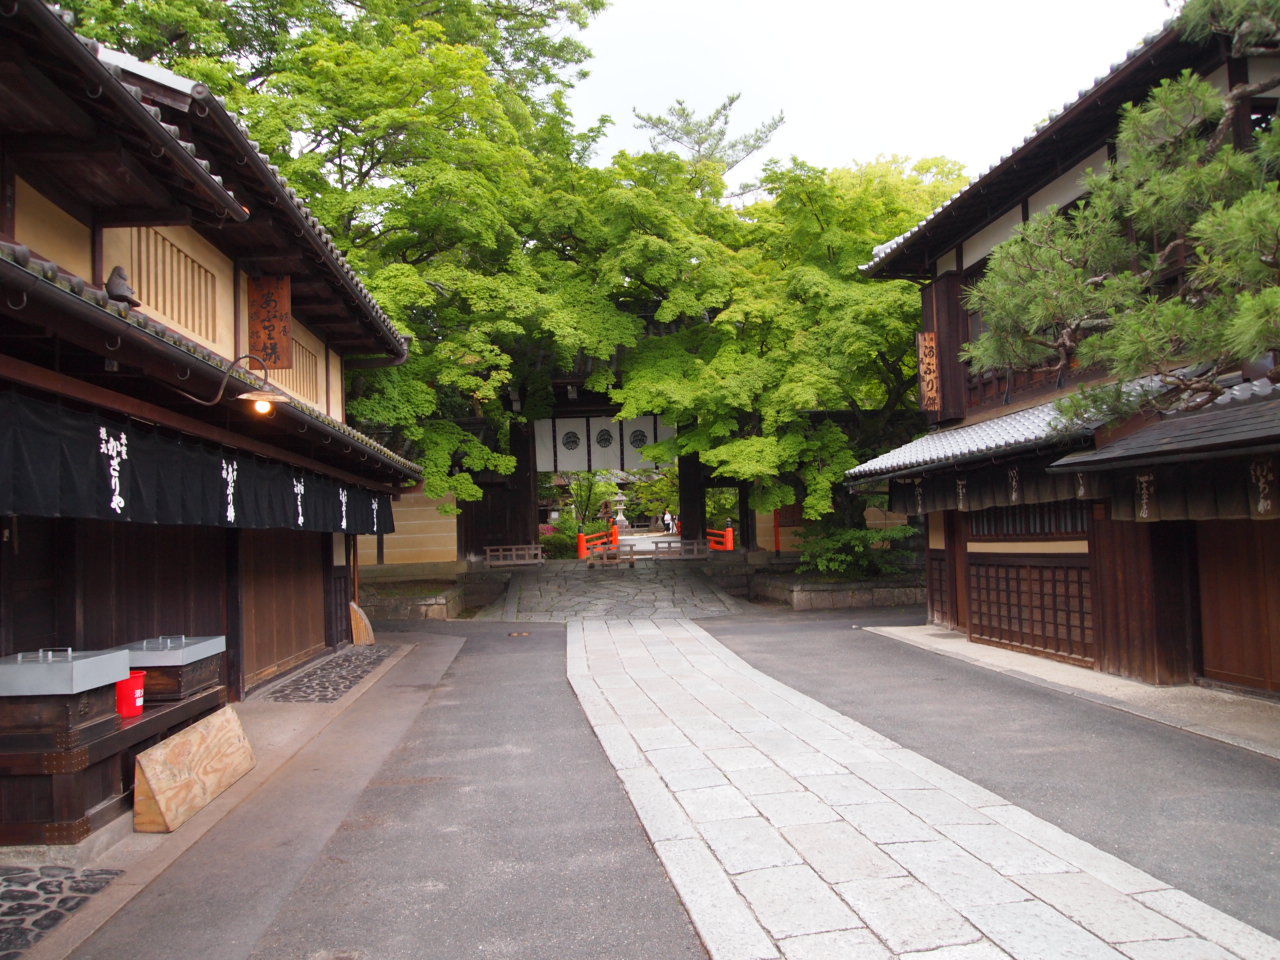
<path id="1" fill-rule="evenodd" d="M 1277 23 L 1276 0 L 1192 0 L 1181 17 L 1189 37 L 1226 35 L 1244 51 L 1275 51 Z M 1206 403 L 1222 372 L 1280 348 L 1280 128 L 1231 143 L 1238 111 L 1277 86 L 1280 73 L 1224 96 L 1184 73 L 1126 106 L 1119 159 L 1089 175 L 1087 200 L 1033 218 L 993 252 L 970 294 L 988 330 L 966 358 L 1156 374 L 1158 396 L 1094 388 L 1065 407 L 1117 415 Z"/>

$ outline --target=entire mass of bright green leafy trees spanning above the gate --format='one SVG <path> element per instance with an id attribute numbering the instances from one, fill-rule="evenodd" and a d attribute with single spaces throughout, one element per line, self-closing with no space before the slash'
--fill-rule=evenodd
<path id="1" fill-rule="evenodd" d="M 681 428 L 659 462 L 696 453 L 756 508 L 822 516 L 845 470 L 918 428 L 918 296 L 856 268 L 960 170 L 774 164 L 733 210 L 724 170 L 781 120 L 731 136 L 736 97 L 641 118 L 689 156 L 588 166 L 599 128 L 579 132 L 562 97 L 586 51 L 563 27 L 603 5 L 70 3 L 86 33 L 225 93 L 415 335 L 406 365 L 353 372 L 349 415 L 422 465 L 429 495 L 509 472 L 511 426 L 585 371 L 623 416 Z"/>

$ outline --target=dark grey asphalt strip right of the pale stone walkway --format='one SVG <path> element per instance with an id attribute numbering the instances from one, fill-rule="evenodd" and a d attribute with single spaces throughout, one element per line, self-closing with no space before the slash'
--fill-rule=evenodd
<path id="1" fill-rule="evenodd" d="M 1280 760 L 851 627 L 922 617 L 700 625 L 783 684 L 1280 937 Z"/>

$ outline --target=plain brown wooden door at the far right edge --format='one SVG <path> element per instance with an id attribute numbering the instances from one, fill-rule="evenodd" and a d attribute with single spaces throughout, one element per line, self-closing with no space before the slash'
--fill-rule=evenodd
<path id="1" fill-rule="evenodd" d="M 1280 690 L 1280 526 L 1197 524 L 1204 676 Z"/>

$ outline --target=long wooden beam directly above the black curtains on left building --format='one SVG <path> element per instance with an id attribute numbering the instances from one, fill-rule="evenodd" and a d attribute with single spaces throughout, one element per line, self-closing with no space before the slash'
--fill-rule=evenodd
<path id="1" fill-rule="evenodd" d="M 14 383 L 20 383 L 24 387 L 32 387 L 37 390 L 56 393 L 60 397 L 76 399 L 81 403 L 90 403 L 96 407 L 102 407 L 104 410 L 113 410 L 116 413 L 124 413 L 127 416 L 137 417 L 138 420 L 150 421 L 160 426 L 168 426 L 173 430 L 191 434 L 192 436 L 200 436 L 206 440 L 211 440 L 212 443 L 219 443 L 224 447 L 233 447 L 236 449 L 244 451 L 246 453 L 257 453 L 261 457 L 278 460 L 282 463 L 288 463 L 303 470 L 311 470 L 316 474 L 324 474 L 325 476 L 332 476 L 335 480 L 342 480 L 348 484 L 356 484 L 358 486 L 380 490 L 383 493 L 399 493 L 398 488 L 393 488 L 388 484 L 380 484 L 366 477 L 356 476 L 355 474 L 348 474 L 346 470 L 332 467 L 328 463 L 321 463 L 320 461 L 310 457 L 291 453 L 289 451 L 279 447 L 273 447 L 269 443 L 255 440 L 244 434 L 224 430 L 223 428 L 214 426 L 212 424 L 206 424 L 201 420 L 175 413 L 172 410 L 157 407 L 154 403 L 134 399 L 133 397 L 125 397 L 122 393 L 108 390 L 104 387 L 95 387 L 93 384 L 84 383 L 83 380 L 77 380 L 76 378 L 67 376 L 65 374 L 46 370 L 42 366 L 27 364 L 22 360 L 15 360 L 14 357 L 0 356 L 0 379 L 13 380 Z"/>

